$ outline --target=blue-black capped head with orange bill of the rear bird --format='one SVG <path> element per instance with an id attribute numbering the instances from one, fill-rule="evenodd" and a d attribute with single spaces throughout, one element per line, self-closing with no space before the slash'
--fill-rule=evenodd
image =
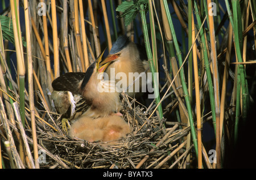
<path id="1" fill-rule="evenodd" d="M 120 36 L 117 38 L 117 41 L 114 42 L 109 55 L 101 62 L 101 65 L 105 65 L 106 63 L 111 63 L 121 57 L 121 55 L 126 54 L 129 49 L 127 45 L 129 45 L 130 39 L 127 36 Z"/>

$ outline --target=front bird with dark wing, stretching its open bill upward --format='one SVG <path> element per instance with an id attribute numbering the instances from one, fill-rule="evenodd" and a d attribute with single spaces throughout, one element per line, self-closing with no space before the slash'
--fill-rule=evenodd
<path id="1" fill-rule="evenodd" d="M 63 118 L 65 131 L 65 123 L 80 115 L 90 118 L 106 117 L 109 114 L 121 115 L 120 95 L 117 91 L 112 91 L 115 82 L 104 80 L 101 76 L 109 65 L 100 65 L 103 53 L 86 72 L 68 72 L 52 82 L 51 97 L 57 112 Z"/>

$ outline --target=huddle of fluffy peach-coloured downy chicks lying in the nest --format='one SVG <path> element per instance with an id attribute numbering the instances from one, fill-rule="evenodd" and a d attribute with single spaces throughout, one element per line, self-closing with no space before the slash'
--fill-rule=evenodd
<path id="1" fill-rule="evenodd" d="M 125 138 L 130 133 L 128 123 L 120 116 L 90 118 L 82 115 L 69 130 L 69 136 L 86 140 L 88 142 L 110 142 Z"/>

